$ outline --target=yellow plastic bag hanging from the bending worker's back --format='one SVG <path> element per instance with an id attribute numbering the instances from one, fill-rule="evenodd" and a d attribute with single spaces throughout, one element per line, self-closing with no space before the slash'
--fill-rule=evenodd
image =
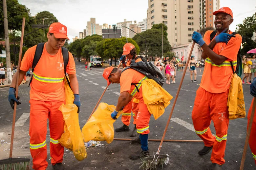
<path id="1" fill-rule="evenodd" d="M 173 96 L 152 79 L 142 81 L 141 85 L 144 103 L 147 105 L 148 111 L 157 120 L 164 113 L 164 109 L 170 104 Z"/>

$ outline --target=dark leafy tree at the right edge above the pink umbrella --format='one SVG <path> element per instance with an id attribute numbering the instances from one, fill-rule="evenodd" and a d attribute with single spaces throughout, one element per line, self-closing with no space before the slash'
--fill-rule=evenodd
<path id="1" fill-rule="evenodd" d="M 243 37 L 243 48 L 241 49 L 241 55 L 246 54 L 247 51 L 256 48 L 256 40 L 251 39 L 253 32 L 256 32 L 256 13 L 243 20 L 243 24 L 238 24 L 236 32 Z"/>

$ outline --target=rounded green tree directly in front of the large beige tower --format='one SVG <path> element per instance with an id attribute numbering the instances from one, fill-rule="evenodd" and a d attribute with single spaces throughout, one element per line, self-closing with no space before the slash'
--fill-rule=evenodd
<path id="1" fill-rule="evenodd" d="M 150 57 L 162 56 L 162 31 L 160 29 L 148 29 L 140 33 L 147 40 L 147 55 Z M 133 40 L 137 42 L 141 51 L 145 51 L 145 39 L 139 35 L 135 35 Z M 167 36 L 163 36 L 163 52 L 170 51 L 171 45 Z"/>

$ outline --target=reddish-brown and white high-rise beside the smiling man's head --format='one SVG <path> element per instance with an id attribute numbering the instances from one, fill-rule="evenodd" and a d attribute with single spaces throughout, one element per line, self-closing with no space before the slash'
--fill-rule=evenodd
<path id="1" fill-rule="evenodd" d="M 200 0 L 200 28 L 215 27 L 212 13 L 220 9 L 220 0 Z"/>

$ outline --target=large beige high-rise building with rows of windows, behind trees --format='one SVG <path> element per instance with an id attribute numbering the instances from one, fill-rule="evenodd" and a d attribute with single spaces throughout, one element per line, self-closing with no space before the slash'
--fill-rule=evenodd
<path id="1" fill-rule="evenodd" d="M 148 0 L 147 28 L 167 25 L 171 46 L 192 42 L 192 33 L 200 29 L 200 0 Z"/>

